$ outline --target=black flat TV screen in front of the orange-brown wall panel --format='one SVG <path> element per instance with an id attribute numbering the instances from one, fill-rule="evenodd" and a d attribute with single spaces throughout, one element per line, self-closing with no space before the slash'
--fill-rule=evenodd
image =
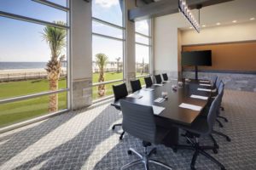
<path id="1" fill-rule="evenodd" d="M 182 52 L 182 65 L 212 65 L 212 50 Z"/>

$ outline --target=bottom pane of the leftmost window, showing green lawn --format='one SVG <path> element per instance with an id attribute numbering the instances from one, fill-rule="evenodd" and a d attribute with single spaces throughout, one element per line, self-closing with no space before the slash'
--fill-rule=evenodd
<path id="1" fill-rule="evenodd" d="M 58 110 L 67 109 L 67 92 L 58 94 Z M 49 96 L 0 105 L 0 127 L 49 113 Z"/>

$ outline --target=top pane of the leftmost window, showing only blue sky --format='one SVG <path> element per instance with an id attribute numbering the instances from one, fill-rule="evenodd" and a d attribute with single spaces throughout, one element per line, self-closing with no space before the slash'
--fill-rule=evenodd
<path id="1" fill-rule="evenodd" d="M 48 22 L 63 21 L 67 24 L 67 12 L 31 0 L 0 0 L 0 11 Z"/>

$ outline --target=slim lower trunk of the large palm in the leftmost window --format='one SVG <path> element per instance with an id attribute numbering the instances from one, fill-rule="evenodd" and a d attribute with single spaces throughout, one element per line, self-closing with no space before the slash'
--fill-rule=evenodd
<path id="1" fill-rule="evenodd" d="M 51 79 L 49 80 L 49 90 L 55 91 L 58 90 L 58 80 Z M 49 95 L 49 112 L 58 111 L 58 94 Z"/>

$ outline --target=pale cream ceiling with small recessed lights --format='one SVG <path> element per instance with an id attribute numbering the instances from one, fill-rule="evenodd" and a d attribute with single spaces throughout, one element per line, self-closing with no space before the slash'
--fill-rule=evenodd
<path id="1" fill-rule="evenodd" d="M 198 19 L 198 10 L 194 9 L 192 13 Z M 173 24 L 181 29 L 189 29 L 189 22 L 184 19 L 182 14 L 169 14 L 163 17 L 170 18 Z M 251 18 L 255 20 L 250 20 Z M 233 20 L 237 22 L 233 23 Z M 217 26 L 217 23 L 223 26 L 252 21 L 256 21 L 256 0 L 234 0 L 201 8 L 201 26 Z"/>

